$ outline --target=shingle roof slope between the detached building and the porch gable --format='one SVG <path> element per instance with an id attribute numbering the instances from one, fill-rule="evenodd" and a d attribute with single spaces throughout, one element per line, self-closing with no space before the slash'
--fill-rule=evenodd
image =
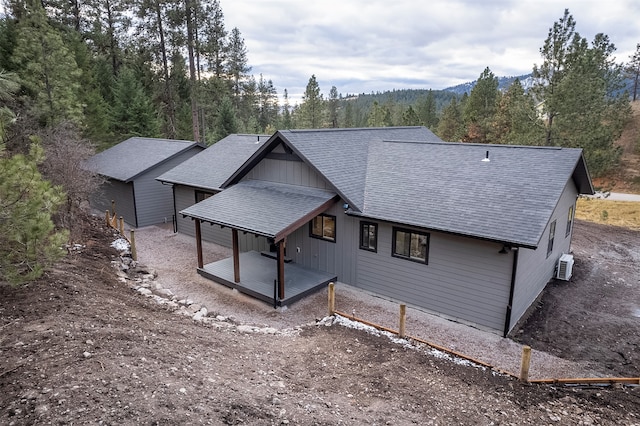
<path id="1" fill-rule="evenodd" d="M 162 182 L 219 190 L 267 140 L 266 135 L 229 135 L 162 174 Z"/>

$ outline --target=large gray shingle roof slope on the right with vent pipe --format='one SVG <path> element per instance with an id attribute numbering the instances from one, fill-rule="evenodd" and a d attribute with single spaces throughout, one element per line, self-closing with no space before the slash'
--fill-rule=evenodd
<path id="1" fill-rule="evenodd" d="M 376 142 L 361 214 L 536 247 L 582 161 L 575 148 Z M 576 185 L 592 191 L 588 176 Z"/>

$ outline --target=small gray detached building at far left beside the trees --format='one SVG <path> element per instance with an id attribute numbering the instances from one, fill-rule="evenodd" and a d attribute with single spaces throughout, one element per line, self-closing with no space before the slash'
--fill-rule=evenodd
<path id="1" fill-rule="evenodd" d="M 129 138 L 91 157 L 84 167 L 106 178 L 91 197 L 94 209 L 111 210 L 134 227 L 171 222 L 171 187 L 155 180 L 204 149 L 204 145 L 183 140 Z"/>

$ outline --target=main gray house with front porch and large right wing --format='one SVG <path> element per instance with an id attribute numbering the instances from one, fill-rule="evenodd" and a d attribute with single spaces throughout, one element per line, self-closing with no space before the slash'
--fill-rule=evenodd
<path id="1" fill-rule="evenodd" d="M 283 130 L 181 210 L 198 272 L 274 306 L 339 280 L 507 335 L 570 251 L 581 149 L 443 142 L 424 127 Z M 233 257 L 203 263 L 208 226 Z M 275 260 L 274 260 L 275 259 Z"/>

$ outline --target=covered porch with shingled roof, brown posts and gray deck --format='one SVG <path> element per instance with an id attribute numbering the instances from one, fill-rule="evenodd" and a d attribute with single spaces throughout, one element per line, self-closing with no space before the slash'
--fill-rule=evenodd
<path id="1" fill-rule="evenodd" d="M 285 260 L 286 238 L 339 197 L 332 191 L 264 181 L 243 181 L 183 211 L 194 219 L 198 273 L 223 285 L 273 303 L 293 303 L 337 279 L 335 274 Z M 201 223 L 231 228 L 233 256 L 204 265 Z M 238 232 L 266 237 L 270 256 L 240 252 Z"/>

